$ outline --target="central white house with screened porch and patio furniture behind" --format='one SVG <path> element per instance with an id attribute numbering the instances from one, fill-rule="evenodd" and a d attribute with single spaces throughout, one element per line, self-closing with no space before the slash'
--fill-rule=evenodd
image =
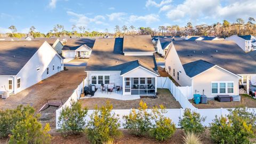
<path id="1" fill-rule="evenodd" d="M 127 97 L 155 95 L 159 74 L 154 51 L 150 35 L 98 38 L 85 68 L 87 83 L 121 86 Z"/>

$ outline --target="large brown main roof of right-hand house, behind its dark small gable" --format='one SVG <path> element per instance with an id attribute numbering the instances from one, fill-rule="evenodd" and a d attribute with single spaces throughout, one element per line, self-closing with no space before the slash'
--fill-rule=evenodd
<path id="1" fill-rule="evenodd" d="M 234 74 L 256 74 L 256 62 L 233 41 L 173 41 L 172 43 L 182 65 L 204 60 Z"/>

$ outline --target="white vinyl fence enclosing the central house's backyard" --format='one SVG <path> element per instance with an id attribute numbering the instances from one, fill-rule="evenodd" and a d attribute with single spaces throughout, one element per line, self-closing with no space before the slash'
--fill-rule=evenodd
<path id="1" fill-rule="evenodd" d="M 220 109 L 197 109 L 195 108 L 189 101 L 188 97 L 185 96 L 183 93 L 186 93 L 186 91 L 189 91 L 189 88 L 179 87 L 175 86 L 171 79 L 169 78 L 157 78 L 157 85 L 158 88 L 165 88 L 169 89 L 170 92 L 173 94 L 174 98 L 179 101 L 182 108 L 180 109 L 166 109 L 167 113 L 164 114 L 166 117 L 169 117 L 172 119 L 172 122 L 175 124 L 177 128 L 179 128 L 179 117 L 183 116 L 185 108 L 190 108 L 193 111 L 196 111 L 197 113 L 201 114 L 201 116 L 205 117 L 205 122 L 203 123 L 204 126 L 209 126 L 210 123 L 212 123 L 215 116 L 220 117 L 221 115 L 225 116 L 229 113 L 227 108 L 220 108 Z M 86 82 L 87 79 L 85 79 L 84 82 Z M 64 105 L 56 110 L 56 129 L 59 129 L 58 126 L 58 119 L 61 113 L 61 110 L 63 107 L 70 107 L 71 99 L 77 101 L 80 97 L 81 90 L 82 90 L 83 82 L 78 85 L 77 89 L 74 91 L 74 93 L 70 96 L 70 98 L 64 103 Z M 85 85 L 86 86 L 86 85 Z M 183 91 L 183 92 L 182 92 Z M 184 92 L 185 91 L 185 92 Z M 151 109 L 148 109 L 151 111 Z M 250 111 L 256 111 L 256 108 L 249 108 Z M 129 115 L 131 112 L 131 109 L 114 109 L 112 113 L 115 113 L 119 117 L 119 122 L 121 123 L 121 127 L 123 128 L 124 115 Z M 93 110 L 89 110 L 87 116 L 85 117 L 86 121 L 90 121 L 90 115 L 93 113 Z"/>

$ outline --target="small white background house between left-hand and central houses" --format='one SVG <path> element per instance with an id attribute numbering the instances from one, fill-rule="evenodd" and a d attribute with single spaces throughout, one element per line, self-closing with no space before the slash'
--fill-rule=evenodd
<path id="1" fill-rule="evenodd" d="M 90 58 L 95 39 L 69 38 L 62 49 L 65 58 Z"/>

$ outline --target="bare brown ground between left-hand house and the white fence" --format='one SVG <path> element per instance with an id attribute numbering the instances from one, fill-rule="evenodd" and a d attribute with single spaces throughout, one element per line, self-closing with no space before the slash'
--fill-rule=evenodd
<path id="1" fill-rule="evenodd" d="M 68 70 L 61 71 L 43 81 L 11 95 L 10 98 L 0 99 L 0 109 L 13 109 L 18 105 L 33 106 L 36 112 L 47 102 L 65 102 L 76 87 L 86 77 L 85 67 L 67 67 Z M 52 129 L 55 127 L 55 110 L 51 113 L 41 113 L 42 123 L 50 123 Z"/>

